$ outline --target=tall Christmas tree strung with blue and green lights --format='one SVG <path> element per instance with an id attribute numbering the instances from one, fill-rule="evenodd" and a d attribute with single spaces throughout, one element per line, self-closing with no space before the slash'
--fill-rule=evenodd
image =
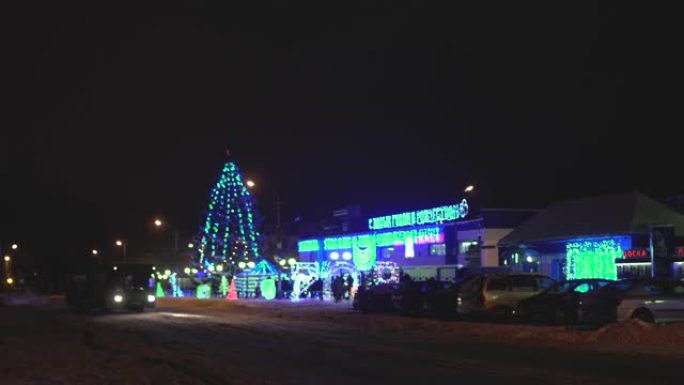
<path id="1" fill-rule="evenodd" d="M 255 204 L 237 165 L 228 158 L 211 190 L 200 231 L 197 261 L 205 268 L 221 262 L 259 258 Z"/>

